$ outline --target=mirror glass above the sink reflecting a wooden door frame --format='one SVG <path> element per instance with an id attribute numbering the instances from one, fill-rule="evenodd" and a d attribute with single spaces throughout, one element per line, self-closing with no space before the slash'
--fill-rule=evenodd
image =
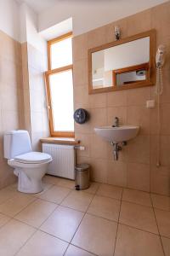
<path id="1" fill-rule="evenodd" d="M 95 51 L 92 53 L 93 89 L 144 83 L 149 76 L 149 63 L 149 36 Z"/>

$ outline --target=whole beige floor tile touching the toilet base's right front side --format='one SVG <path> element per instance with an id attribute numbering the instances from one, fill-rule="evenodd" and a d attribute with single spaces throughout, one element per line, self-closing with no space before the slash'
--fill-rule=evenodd
<path id="1" fill-rule="evenodd" d="M 40 195 L 40 198 L 59 204 L 70 192 L 71 189 L 53 186 L 51 189 L 48 189 Z"/>

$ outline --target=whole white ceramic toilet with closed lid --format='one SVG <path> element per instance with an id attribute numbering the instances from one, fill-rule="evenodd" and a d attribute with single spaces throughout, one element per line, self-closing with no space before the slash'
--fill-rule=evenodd
<path id="1" fill-rule="evenodd" d="M 28 131 L 9 131 L 3 140 L 4 158 L 18 177 L 18 190 L 24 193 L 42 191 L 42 177 L 52 161 L 49 154 L 33 152 Z"/>

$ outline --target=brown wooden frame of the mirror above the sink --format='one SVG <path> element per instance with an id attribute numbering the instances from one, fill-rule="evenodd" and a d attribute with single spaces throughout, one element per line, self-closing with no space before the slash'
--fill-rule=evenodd
<path id="1" fill-rule="evenodd" d="M 102 49 L 108 49 L 108 48 L 114 47 L 116 45 L 132 42 L 132 41 L 138 40 L 140 38 L 147 38 L 147 37 L 150 37 L 150 61 L 149 61 L 149 67 L 148 67 L 147 74 L 146 74 L 146 80 L 144 80 L 142 82 L 138 82 L 138 83 L 127 84 L 126 86 L 121 86 L 121 85 L 116 86 L 116 84 L 113 83 L 112 86 L 109 86 L 109 87 L 97 88 L 97 89 L 93 88 L 92 54 L 94 52 L 100 51 Z M 154 85 L 156 83 L 155 53 L 156 53 L 156 30 L 155 29 L 152 29 L 147 32 L 142 32 L 142 33 L 139 33 L 137 35 L 134 35 L 134 36 L 131 36 L 128 38 L 123 38 L 118 41 L 111 42 L 109 44 L 103 44 L 103 45 L 100 45 L 93 49 L 88 49 L 88 94 L 108 92 L 108 91 L 113 91 L 113 90 L 127 90 L 127 89 L 133 89 L 133 88 Z M 120 70 L 116 70 L 116 71 L 117 71 L 117 73 L 120 72 Z M 114 72 L 116 72 L 116 71 L 114 71 Z"/>

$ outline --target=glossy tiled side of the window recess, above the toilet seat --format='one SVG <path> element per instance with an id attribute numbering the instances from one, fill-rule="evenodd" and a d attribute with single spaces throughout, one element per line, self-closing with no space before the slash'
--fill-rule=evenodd
<path id="1" fill-rule="evenodd" d="M 41 150 L 40 138 L 49 136 L 48 108 L 43 73 L 45 55 L 31 44 L 22 44 L 25 125 L 30 131 L 33 150 Z"/>

